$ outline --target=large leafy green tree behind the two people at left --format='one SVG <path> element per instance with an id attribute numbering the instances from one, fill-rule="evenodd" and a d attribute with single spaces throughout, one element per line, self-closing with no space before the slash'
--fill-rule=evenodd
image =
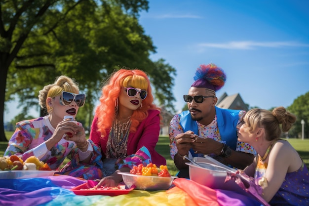
<path id="1" fill-rule="evenodd" d="M 38 105 L 44 85 L 67 75 L 87 95 L 77 118 L 89 122 L 101 82 L 123 66 L 147 72 L 158 103 L 173 109 L 176 72 L 163 59 L 149 58 L 155 47 L 138 22 L 147 9 L 147 0 L 1 1 L 0 116 L 4 99 L 17 95 L 27 113 Z M 5 141 L 3 118 L 0 141 Z"/>

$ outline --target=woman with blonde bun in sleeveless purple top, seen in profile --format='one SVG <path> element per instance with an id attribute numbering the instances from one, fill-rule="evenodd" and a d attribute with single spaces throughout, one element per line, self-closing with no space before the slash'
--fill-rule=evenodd
<path id="1" fill-rule="evenodd" d="M 284 107 L 251 109 L 238 127 L 238 140 L 258 154 L 244 172 L 257 179 L 262 188 L 257 191 L 271 206 L 309 205 L 308 168 L 292 145 L 280 139 L 281 128 L 287 132 L 295 122 L 296 116 Z"/>

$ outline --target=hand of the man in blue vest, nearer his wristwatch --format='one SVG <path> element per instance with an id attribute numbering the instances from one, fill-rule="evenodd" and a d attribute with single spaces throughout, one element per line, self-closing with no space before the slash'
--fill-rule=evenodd
<path id="1" fill-rule="evenodd" d="M 192 149 L 195 153 L 216 154 L 221 155 L 223 145 L 212 138 L 195 138 L 195 141 L 191 143 Z"/>

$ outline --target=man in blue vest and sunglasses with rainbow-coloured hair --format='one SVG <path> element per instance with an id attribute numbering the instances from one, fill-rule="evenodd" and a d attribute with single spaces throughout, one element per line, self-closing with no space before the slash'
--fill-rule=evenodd
<path id="1" fill-rule="evenodd" d="M 177 176 L 189 178 L 185 159 L 208 155 L 231 167 L 244 169 L 253 162 L 255 150 L 237 141 L 236 126 L 243 110 L 216 107 L 216 91 L 224 86 L 226 74 L 215 64 L 200 65 L 184 100 L 188 111 L 174 116 L 170 122 L 170 155 L 180 170 Z"/>

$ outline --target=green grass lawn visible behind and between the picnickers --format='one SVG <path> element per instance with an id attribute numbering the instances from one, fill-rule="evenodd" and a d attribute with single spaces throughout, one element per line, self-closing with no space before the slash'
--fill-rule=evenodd
<path id="1" fill-rule="evenodd" d="M 11 137 L 13 132 L 6 132 L 6 137 Z M 291 145 L 297 150 L 305 164 L 309 167 L 309 139 L 287 139 Z M 174 165 L 174 161 L 171 159 L 169 155 L 169 138 L 168 136 L 160 136 L 159 141 L 155 147 L 155 150 L 162 155 L 167 162 L 167 168 L 169 168 L 171 175 L 175 175 L 177 173 L 177 168 Z M 3 153 L 7 147 L 7 142 L 0 142 L 0 157 L 3 157 Z M 66 164 L 69 160 L 66 159 L 64 164 Z"/>

